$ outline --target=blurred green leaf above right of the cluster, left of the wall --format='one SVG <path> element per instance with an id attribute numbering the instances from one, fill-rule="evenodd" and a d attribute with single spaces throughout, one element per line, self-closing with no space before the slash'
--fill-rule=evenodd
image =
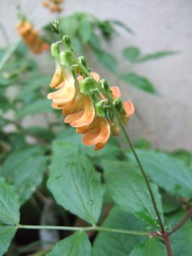
<path id="1" fill-rule="evenodd" d="M 117 71 L 117 60 L 102 49 L 94 49 L 97 60 L 111 72 Z"/>

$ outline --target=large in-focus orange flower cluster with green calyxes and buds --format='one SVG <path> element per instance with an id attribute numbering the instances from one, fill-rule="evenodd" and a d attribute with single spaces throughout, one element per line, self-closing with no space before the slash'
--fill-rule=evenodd
<path id="1" fill-rule="evenodd" d="M 113 108 L 126 124 L 134 113 L 132 103 L 122 103 L 119 87 L 109 87 L 106 80 L 90 72 L 84 57 L 76 59 L 73 50 L 60 53 L 58 44 L 51 49 L 56 63 L 50 83 L 56 90 L 48 95 L 52 107 L 62 110 L 66 115 L 64 122 L 83 135 L 85 145 L 95 145 L 95 150 L 103 148 L 110 134 L 119 135 L 119 121 Z M 109 101 L 113 102 L 113 108 Z"/>

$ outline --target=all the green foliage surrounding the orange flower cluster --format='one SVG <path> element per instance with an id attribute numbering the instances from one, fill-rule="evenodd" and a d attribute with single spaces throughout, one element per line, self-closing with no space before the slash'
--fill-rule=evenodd
<path id="1" fill-rule="evenodd" d="M 102 47 L 103 40 L 113 40 L 118 26 L 134 36 L 119 20 L 99 20 L 86 14 L 60 20 L 61 34 L 72 38 L 78 53 L 91 49 L 111 72 L 137 89 L 157 95 L 149 79 L 120 73 L 118 61 Z M 44 27 L 44 38 L 49 43 L 57 39 L 49 26 Z M 136 46 L 123 50 L 125 59 L 134 65 L 173 54 L 142 55 Z M 0 255 L 10 244 L 6 255 L 166 255 L 154 205 L 131 151 L 120 148 L 114 138 L 98 152 L 85 147 L 80 136 L 62 124 L 61 117 L 55 117 L 46 100 L 51 76 L 42 72 L 26 46 L 20 42 L 1 49 L 0 55 Z M 45 125 L 36 117 L 38 122 L 45 120 Z M 32 120 L 28 125 L 27 119 Z M 144 139 L 135 147 L 160 218 L 172 233 L 174 255 L 190 256 L 191 220 L 172 230 L 191 211 L 192 155 L 186 150 L 154 150 Z M 40 226 L 28 239 L 25 229 L 32 227 L 27 225 L 44 223 L 54 225 L 55 230 L 61 228 L 57 233 L 60 241 L 43 238 Z M 47 232 L 51 237 L 52 230 Z"/>

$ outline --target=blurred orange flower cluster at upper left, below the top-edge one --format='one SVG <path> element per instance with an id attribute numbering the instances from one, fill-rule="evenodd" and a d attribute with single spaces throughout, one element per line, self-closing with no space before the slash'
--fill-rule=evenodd
<path id="1" fill-rule="evenodd" d="M 49 49 L 49 44 L 45 43 L 40 37 L 38 30 L 32 26 L 28 20 L 21 20 L 16 26 L 24 43 L 31 49 L 32 53 L 40 54 Z"/>

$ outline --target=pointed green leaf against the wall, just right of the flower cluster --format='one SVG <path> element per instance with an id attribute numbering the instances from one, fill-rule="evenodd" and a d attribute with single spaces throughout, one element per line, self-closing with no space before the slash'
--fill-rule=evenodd
<path id="1" fill-rule="evenodd" d="M 154 88 L 154 85 L 151 84 L 151 82 L 148 79 L 137 75 L 137 73 L 122 73 L 120 75 L 120 78 L 123 79 L 126 83 L 131 84 L 139 90 L 143 90 L 145 92 L 157 95 L 157 91 Z"/>

